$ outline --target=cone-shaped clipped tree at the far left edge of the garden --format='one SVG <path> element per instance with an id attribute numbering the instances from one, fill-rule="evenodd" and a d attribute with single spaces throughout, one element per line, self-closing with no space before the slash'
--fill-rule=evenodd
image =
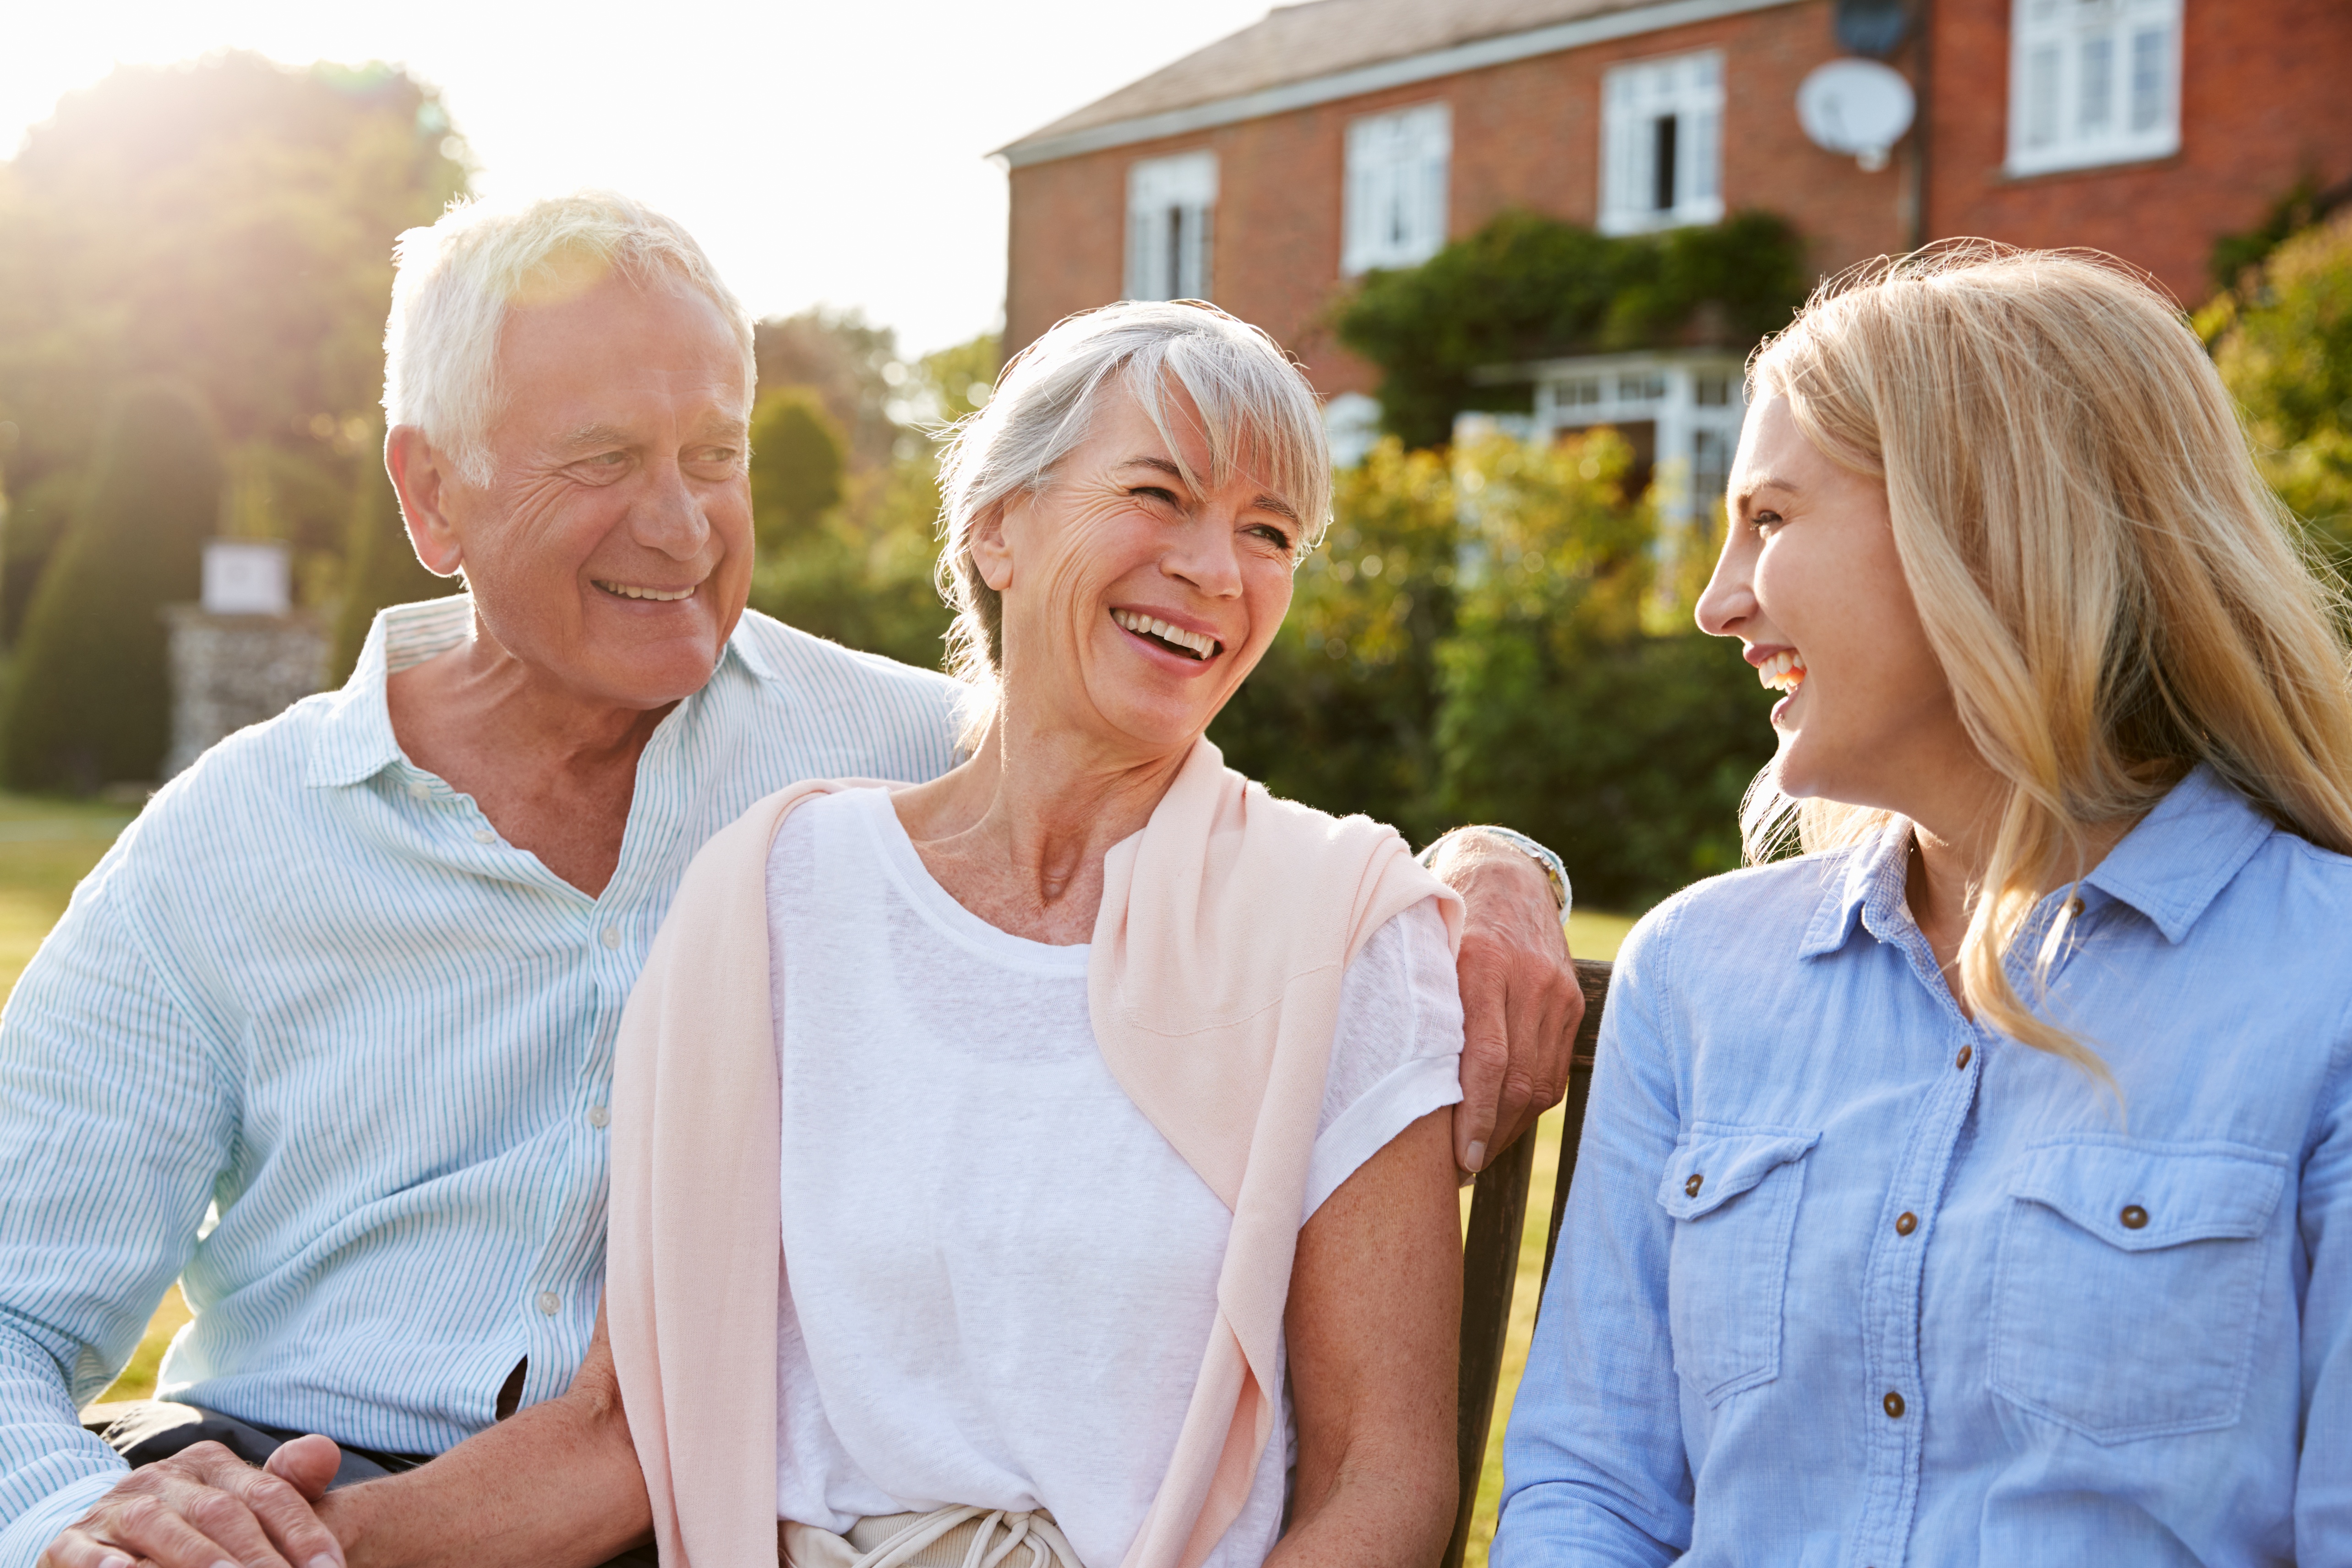
<path id="1" fill-rule="evenodd" d="M 202 590 L 219 515 L 209 414 L 181 388 L 127 390 L 26 614 L 5 724 L 14 788 L 155 778 L 172 738 L 162 607 Z"/>

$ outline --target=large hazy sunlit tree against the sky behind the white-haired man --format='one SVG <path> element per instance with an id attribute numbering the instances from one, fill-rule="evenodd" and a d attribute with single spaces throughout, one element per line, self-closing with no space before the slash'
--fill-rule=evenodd
<path id="1" fill-rule="evenodd" d="M 273 531 L 332 583 L 346 428 L 383 383 L 393 237 L 466 188 L 430 89 L 390 66 L 256 54 L 125 66 L 68 94 L 0 165 L 0 418 L 19 489 L 92 461 L 115 388 L 193 388 L 235 449 L 266 449 Z M 38 555 L 9 550 L 26 578 Z M 12 590 L 14 592 L 14 590 Z"/>

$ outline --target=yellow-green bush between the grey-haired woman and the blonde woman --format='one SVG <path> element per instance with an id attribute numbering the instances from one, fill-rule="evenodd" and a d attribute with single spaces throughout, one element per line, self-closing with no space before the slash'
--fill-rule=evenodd
<path id="1" fill-rule="evenodd" d="M 1738 863 L 1771 757 L 1755 672 L 1658 581 L 1613 433 L 1383 442 L 1338 475 L 1327 550 L 1211 736 L 1228 762 L 1421 842 L 1496 820 L 1562 851 L 1578 896 L 1637 907 Z"/>

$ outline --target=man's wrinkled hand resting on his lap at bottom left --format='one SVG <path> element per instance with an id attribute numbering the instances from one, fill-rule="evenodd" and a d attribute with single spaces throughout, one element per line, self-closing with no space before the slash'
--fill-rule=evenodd
<path id="1" fill-rule="evenodd" d="M 343 1568 L 343 1547 L 310 1512 L 341 1462 L 325 1436 L 294 1439 L 263 1469 L 195 1443 L 127 1474 L 38 1568 Z"/>

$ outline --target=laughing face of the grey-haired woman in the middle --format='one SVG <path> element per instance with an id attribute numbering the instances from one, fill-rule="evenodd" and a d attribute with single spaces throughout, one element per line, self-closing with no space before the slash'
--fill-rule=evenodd
<path id="1" fill-rule="evenodd" d="M 1279 630 L 1305 548 L 1305 522 L 1247 463 L 1188 484 L 1209 484 L 1209 440 L 1181 388 L 1164 414 L 1174 451 L 1131 390 L 1105 390 L 1054 482 L 971 541 L 1004 599 L 1002 712 L 1136 759 L 1209 729 Z"/>

